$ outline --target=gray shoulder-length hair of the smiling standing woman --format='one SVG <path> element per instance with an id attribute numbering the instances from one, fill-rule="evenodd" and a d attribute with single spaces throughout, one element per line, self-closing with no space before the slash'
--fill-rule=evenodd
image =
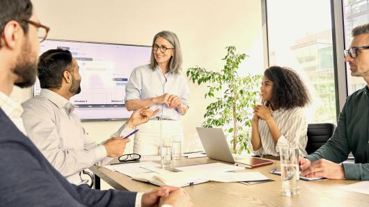
<path id="1" fill-rule="evenodd" d="M 157 33 L 152 40 L 152 46 L 155 44 L 155 40 L 157 38 L 164 38 L 168 40 L 174 47 L 174 55 L 169 60 L 169 72 L 173 74 L 180 74 L 182 71 L 182 52 L 180 51 L 180 41 L 177 38 L 177 35 L 171 31 L 161 31 Z M 155 69 L 157 65 L 157 61 L 154 58 L 154 52 L 151 51 L 151 58 L 150 58 L 150 68 Z"/>

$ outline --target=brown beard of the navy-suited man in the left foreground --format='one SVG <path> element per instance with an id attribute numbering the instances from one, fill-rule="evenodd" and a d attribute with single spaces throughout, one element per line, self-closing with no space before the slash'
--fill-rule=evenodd
<path id="1" fill-rule="evenodd" d="M 12 69 L 13 73 L 18 76 L 14 84 L 20 88 L 32 86 L 36 81 L 37 62 L 37 56 L 33 56 L 29 42 L 24 42 L 22 52 L 17 57 L 15 66 Z"/>

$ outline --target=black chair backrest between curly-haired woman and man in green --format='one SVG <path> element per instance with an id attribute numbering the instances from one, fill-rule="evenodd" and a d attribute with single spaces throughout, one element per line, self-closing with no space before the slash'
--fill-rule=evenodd
<path id="1" fill-rule="evenodd" d="M 336 129 L 336 125 L 331 123 L 308 124 L 308 144 L 306 145 L 306 152 L 312 154 L 322 147 L 322 145 L 331 138 L 334 129 Z"/>

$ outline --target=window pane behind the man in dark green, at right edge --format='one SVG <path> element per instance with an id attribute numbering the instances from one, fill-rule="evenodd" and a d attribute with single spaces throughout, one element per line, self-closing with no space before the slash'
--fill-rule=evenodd
<path id="1" fill-rule="evenodd" d="M 345 42 L 350 48 L 352 28 L 369 22 L 369 0 L 344 0 L 345 11 Z M 366 82 L 361 77 L 350 76 L 350 65 L 347 64 L 347 92 L 352 94 L 363 88 Z"/>

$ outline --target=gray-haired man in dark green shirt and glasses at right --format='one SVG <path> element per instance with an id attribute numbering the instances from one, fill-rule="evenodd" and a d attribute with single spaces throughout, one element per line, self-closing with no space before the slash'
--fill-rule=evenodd
<path id="1" fill-rule="evenodd" d="M 351 48 L 345 50 L 345 61 L 352 76 L 363 77 L 369 85 L 369 24 L 352 30 Z M 331 139 L 306 158 L 299 159 L 301 174 L 327 179 L 369 180 L 369 89 L 358 90 L 347 97 Z M 348 154 L 355 163 L 342 163 Z"/>

